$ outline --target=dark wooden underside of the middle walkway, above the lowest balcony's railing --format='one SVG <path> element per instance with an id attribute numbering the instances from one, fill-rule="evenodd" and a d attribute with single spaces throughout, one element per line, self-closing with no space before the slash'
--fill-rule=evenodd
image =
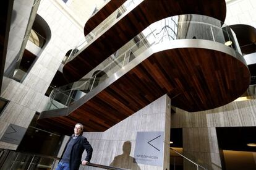
<path id="1" fill-rule="evenodd" d="M 224 22 L 226 2 L 224 0 L 145 0 L 90 46 L 82 52 L 79 51 L 79 55 L 72 61 L 67 62 L 63 68 L 64 76 L 69 82 L 81 79 L 151 23 L 181 14 L 207 15 Z M 95 15 L 92 20 L 97 20 L 98 15 Z"/>

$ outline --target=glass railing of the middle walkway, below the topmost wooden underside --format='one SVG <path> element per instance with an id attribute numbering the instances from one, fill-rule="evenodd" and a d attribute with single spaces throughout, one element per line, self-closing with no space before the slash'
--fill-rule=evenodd
<path id="1" fill-rule="evenodd" d="M 114 22 L 117 22 L 117 20 L 121 19 L 124 15 L 128 14 L 132 9 L 137 7 L 140 2 L 143 0 L 128 0 L 122 4 L 121 7 L 116 9 L 111 15 L 109 15 L 103 22 L 101 22 L 96 28 L 92 30 L 87 36 L 85 36 L 85 40 L 82 41 L 82 43 L 79 43 L 78 46 L 75 46 L 73 48 L 75 51 L 80 51 L 81 49 L 85 49 L 90 43 L 92 43 L 96 36 L 99 36 L 101 33 L 106 32 L 111 25 L 113 25 Z M 67 59 L 67 62 L 74 59 L 76 53 L 71 53 L 69 58 Z M 78 53 L 79 54 L 79 53 Z"/>

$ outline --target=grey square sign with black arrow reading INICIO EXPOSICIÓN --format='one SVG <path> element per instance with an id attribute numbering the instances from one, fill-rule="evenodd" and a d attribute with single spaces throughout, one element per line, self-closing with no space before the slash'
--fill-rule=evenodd
<path id="1" fill-rule="evenodd" d="M 137 132 L 134 158 L 137 163 L 163 166 L 164 132 Z"/>

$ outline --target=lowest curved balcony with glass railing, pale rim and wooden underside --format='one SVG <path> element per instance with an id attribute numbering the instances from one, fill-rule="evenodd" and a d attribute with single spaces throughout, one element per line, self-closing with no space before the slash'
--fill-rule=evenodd
<path id="1" fill-rule="evenodd" d="M 223 106 L 250 84 L 239 51 L 233 32 L 220 20 L 168 17 L 111 54 L 97 67 L 101 72 L 53 91 L 51 109 L 61 96 L 67 100 L 61 108 L 46 108 L 38 122 L 64 133 L 75 122 L 90 132 L 103 131 L 166 93 L 173 106 L 190 112 Z"/>

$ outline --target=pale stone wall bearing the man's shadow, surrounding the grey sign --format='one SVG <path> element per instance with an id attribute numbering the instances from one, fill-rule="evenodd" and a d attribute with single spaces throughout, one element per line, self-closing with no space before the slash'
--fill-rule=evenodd
<path id="1" fill-rule="evenodd" d="M 83 135 L 93 147 L 91 162 L 127 169 L 168 169 L 171 125 L 171 100 L 167 95 L 148 104 L 105 132 L 86 132 Z M 137 132 L 163 131 L 163 166 L 134 163 Z M 83 158 L 85 154 L 83 155 Z M 80 169 L 95 169 L 88 166 Z"/>

